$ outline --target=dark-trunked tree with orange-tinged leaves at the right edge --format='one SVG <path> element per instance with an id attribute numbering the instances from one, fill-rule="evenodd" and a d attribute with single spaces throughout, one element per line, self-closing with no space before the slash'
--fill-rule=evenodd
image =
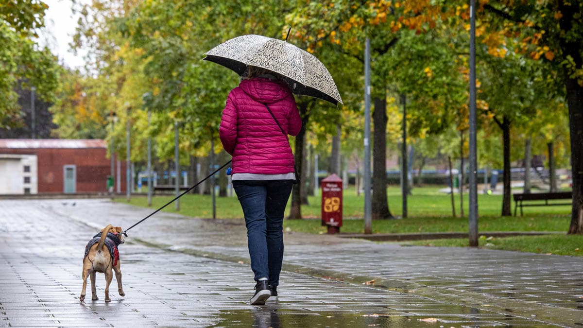
<path id="1" fill-rule="evenodd" d="M 540 60 L 560 74 L 571 139 L 573 205 L 568 233 L 583 234 L 583 5 L 579 1 L 494 1 L 483 6 L 485 20 L 501 34 L 517 34 L 517 53 Z M 562 83 L 561 83 L 562 82 Z"/>

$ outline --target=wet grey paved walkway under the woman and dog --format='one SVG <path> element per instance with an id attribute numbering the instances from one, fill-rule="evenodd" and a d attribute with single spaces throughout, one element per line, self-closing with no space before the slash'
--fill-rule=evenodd
<path id="1" fill-rule="evenodd" d="M 243 220 L 168 213 L 120 247 L 126 295 L 113 281 L 104 302 L 98 273 L 100 299 L 80 303 L 87 241 L 149 213 L 107 200 L 1 200 L 0 326 L 583 326 L 581 258 L 300 233 L 285 235 L 280 301 L 250 306 Z"/>

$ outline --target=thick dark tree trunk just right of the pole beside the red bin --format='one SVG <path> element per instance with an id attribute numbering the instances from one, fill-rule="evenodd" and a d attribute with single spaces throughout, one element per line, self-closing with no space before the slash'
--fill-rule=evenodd
<path id="1" fill-rule="evenodd" d="M 387 200 L 387 100 L 374 98 L 373 113 L 373 219 L 394 218 Z"/>

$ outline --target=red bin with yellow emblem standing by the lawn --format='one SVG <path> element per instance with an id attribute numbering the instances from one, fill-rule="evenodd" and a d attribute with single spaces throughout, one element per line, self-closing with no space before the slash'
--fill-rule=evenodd
<path id="1" fill-rule="evenodd" d="M 342 179 L 335 174 L 322 180 L 322 225 L 330 234 L 342 226 Z"/>

